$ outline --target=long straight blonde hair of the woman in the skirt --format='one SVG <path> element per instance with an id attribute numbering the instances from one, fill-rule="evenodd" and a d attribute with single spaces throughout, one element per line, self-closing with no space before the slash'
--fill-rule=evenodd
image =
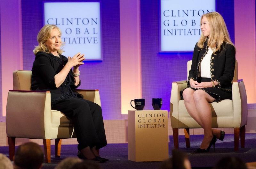
<path id="1" fill-rule="evenodd" d="M 197 43 L 199 48 L 204 48 L 204 43 L 207 41 L 207 46 L 209 46 L 213 50 L 213 54 L 216 55 L 215 53 L 217 51 L 221 51 L 221 45 L 223 42 L 234 46 L 230 40 L 225 21 L 218 12 L 205 13 L 202 15 L 200 23 L 202 23 L 203 17 L 207 18 L 211 31 L 208 37 L 204 36 L 203 33 L 201 34 Z"/>

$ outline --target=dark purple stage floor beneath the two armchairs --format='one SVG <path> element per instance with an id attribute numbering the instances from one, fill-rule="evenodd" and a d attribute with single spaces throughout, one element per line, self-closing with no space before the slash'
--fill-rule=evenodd
<path id="1" fill-rule="evenodd" d="M 211 168 L 221 158 L 226 156 L 237 156 L 244 162 L 256 161 L 256 134 L 246 134 L 245 148 L 239 148 L 239 151 L 234 151 L 234 135 L 226 134 L 224 141 L 218 140 L 215 145 L 215 151 L 211 148 L 209 153 L 194 153 L 194 150 L 199 147 L 203 135 L 190 136 L 191 148 L 186 148 L 184 136 L 179 136 L 180 150 L 187 153 L 193 168 Z M 170 136 L 169 156 L 172 156 L 172 149 L 174 148 L 173 138 Z M 62 145 L 61 158 L 54 157 L 54 146 L 52 149 L 52 163 L 43 165 L 43 169 L 54 168 L 62 159 L 67 157 L 76 157 L 76 145 Z M 0 153 L 8 154 L 8 147 L 0 147 Z M 122 169 L 142 169 L 142 168 L 159 168 L 161 162 L 133 162 L 128 160 L 128 144 L 108 144 L 106 147 L 100 149 L 102 157 L 109 158 L 109 161 L 100 164 L 103 169 L 108 168 L 122 168 Z"/>

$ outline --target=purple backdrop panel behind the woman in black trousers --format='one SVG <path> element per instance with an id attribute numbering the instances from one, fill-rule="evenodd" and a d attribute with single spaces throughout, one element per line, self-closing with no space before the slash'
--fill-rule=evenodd
<path id="1" fill-rule="evenodd" d="M 34 61 L 32 50 L 43 26 L 42 4 L 42 0 L 22 0 L 24 70 L 31 70 Z M 101 17 L 103 61 L 85 62 L 80 67 L 82 84 L 79 89 L 99 89 L 103 118 L 122 119 L 119 0 L 102 0 Z"/>

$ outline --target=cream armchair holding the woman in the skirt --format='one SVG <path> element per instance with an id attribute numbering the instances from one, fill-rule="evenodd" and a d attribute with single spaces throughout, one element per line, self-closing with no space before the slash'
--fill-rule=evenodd
<path id="1" fill-rule="evenodd" d="M 188 61 L 187 70 L 192 61 Z M 187 112 L 180 91 L 187 87 L 187 80 L 172 82 L 170 118 L 173 131 L 174 148 L 179 148 L 178 129 L 185 132 L 186 147 L 190 147 L 189 129 L 202 128 Z M 212 109 L 212 128 L 234 128 L 235 151 L 238 151 L 239 135 L 241 147 L 245 142 L 245 125 L 247 124 L 247 97 L 243 79 L 237 79 L 237 61 L 232 85 L 233 100 L 225 99 L 219 103 L 210 103 Z"/>

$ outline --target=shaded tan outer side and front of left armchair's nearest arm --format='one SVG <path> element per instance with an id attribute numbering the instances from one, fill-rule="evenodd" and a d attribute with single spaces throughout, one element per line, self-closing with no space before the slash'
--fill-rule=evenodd
<path id="1" fill-rule="evenodd" d="M 51 138 L 51 93 L 10 90 L 6 105 L 6 133 L 8 137 Z"/>

